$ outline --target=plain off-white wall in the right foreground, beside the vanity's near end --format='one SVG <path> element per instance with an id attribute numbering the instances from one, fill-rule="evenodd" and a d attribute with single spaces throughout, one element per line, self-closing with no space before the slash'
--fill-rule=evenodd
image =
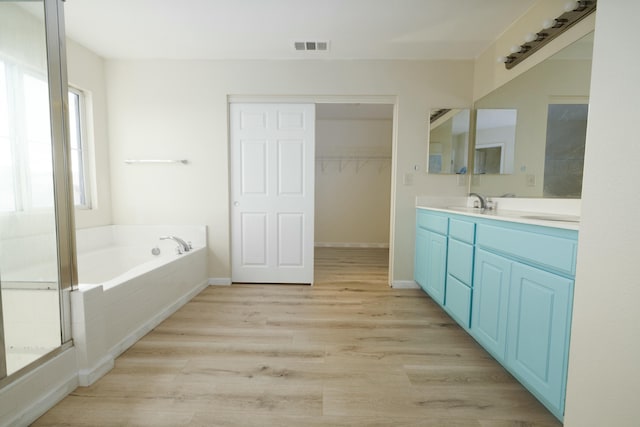
<path id="1" fill-rule="evenodd" d="M 565 425 L 640 422 L 640 3 L 598 4 Z"/>

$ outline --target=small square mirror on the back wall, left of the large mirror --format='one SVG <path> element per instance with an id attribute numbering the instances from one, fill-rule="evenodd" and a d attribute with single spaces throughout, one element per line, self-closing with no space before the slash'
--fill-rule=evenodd
<path id="1" fill-rule="evenodd" d="M 469 109 L 431 112 L 428 172 L 465 174 L 469 157 Z"/>

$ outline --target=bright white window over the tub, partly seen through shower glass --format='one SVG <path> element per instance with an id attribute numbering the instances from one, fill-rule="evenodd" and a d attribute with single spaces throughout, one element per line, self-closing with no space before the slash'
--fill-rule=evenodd
<path id="1" fill-rule="evenodd" d="M 69 90 L 73 199 L 88 208 L 84 95 Z M 0 212 L 53 206 L 49 91 L 46 77 L 0 59 Z"/>

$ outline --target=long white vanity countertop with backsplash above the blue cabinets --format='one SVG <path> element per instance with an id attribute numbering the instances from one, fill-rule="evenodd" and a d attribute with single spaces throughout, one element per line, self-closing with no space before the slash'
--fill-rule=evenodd
<path id="1" fill-rule="evenodd" d="M 558 199 L 492 198 L 491 200 L 497 205 L 497 209 L 492 210 L 474 208 L 473 200 L 476 199 L 418 197 L 416 208 L 568 230 L 580 229 L 579 200 L 570 200 L 565 203 Z"/>

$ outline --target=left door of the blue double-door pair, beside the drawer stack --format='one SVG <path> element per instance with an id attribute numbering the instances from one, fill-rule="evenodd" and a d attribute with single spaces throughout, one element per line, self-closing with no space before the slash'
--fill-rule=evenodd
<path id="1" fill-rule="evenodd" d="M 481 249 L 476 253 L 471 333 L 500 362 L 506 349 L 511 264 Z"/>

